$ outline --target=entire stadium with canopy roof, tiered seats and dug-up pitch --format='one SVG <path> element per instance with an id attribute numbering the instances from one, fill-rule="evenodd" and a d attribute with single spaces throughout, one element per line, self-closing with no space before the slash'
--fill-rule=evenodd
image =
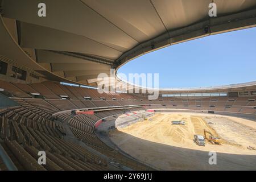
<path id="1" fill-rule="evenodd" d="M 256 79 L 156 88 L 118 76 L 255 26 L 255 0 L 0 0 L 0 175 L 255 171 Z"/>

